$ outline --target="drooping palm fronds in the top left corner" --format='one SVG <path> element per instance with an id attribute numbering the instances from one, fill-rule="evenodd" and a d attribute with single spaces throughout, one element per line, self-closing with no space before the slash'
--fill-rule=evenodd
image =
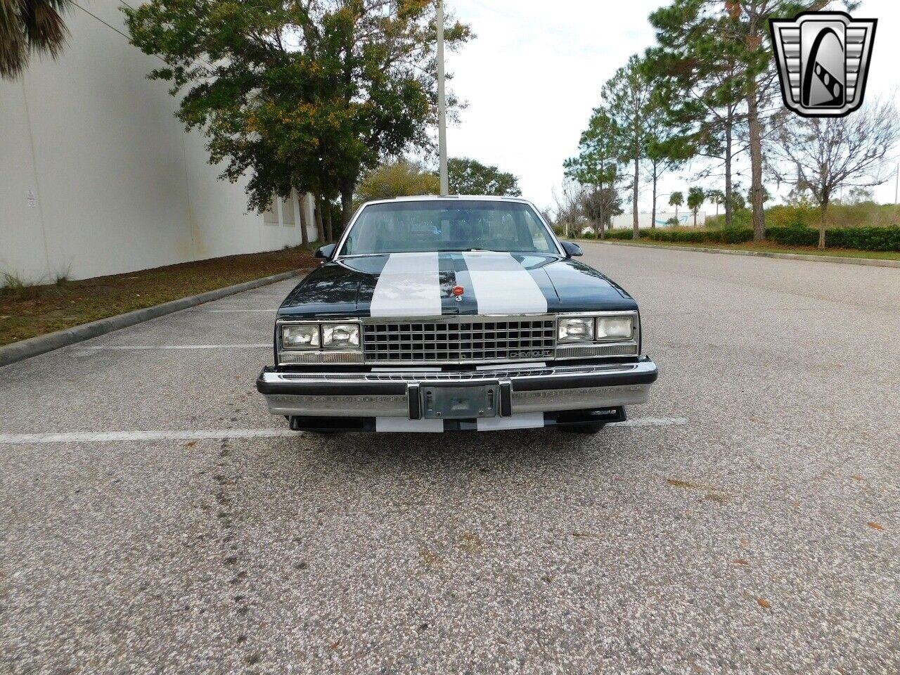
<path id="1" fill-rule="evenodd" d="M 71 0 L 0 0 L 0 77 L 21 75 L 33 53 L 58 57 L 71 7 Z"/>

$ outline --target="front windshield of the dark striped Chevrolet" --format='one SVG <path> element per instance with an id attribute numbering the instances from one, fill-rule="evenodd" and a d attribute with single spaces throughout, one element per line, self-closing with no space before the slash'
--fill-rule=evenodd
<path id="1" fill-rule="evenodd" d="M 366 206 L 339 255 L 476 250 L 559 253 L 526 203 L 436 200 Z"/>

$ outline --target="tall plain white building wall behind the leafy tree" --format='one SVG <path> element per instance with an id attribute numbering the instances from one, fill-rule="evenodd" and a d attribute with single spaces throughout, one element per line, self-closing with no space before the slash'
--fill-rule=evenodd
<path id="1" fill-rule="evenodd" d="M 118 4 L 86 7 L 125 33 Z M 184 131 L 166 83 L 146 77 L 157 58 L 80 8 L 67 26 L 57 61 L 0 81 L 0 271 L 77 279 L 300 243 L 299 200 L 293 223 L 280 203 L 265 223 L 247 212 L 243 182 L 217 179 L 202 134 Z"/>

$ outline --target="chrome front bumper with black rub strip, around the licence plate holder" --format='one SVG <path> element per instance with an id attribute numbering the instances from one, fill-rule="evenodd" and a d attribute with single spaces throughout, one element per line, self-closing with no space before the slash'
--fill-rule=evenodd
<path id="1" fill-rule="evenodd" d="M 500 383 L 507 392 L 500 415 L 509 416 L 644 403 L 657 374 L 647 356 L 633 363 L 446 372 L 279 373 L 266 368 L 257 390 L 273 415 L 419 419 L 420 387 Z"/>

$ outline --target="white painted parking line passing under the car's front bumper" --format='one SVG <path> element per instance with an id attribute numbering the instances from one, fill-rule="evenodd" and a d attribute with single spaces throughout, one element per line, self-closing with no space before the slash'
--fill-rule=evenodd
<path id="1" fill-rule="evenodd" d="M 665 427 L 688 424 L 685 418 L 637 418 L 617 422 L 615 427 Z M 288 428 L 268 429 L 171 429 L 160 431 L 68 431 L 44 434 L 0 434 L 0 446 L 51 443 L 108 443 L 115 441 L 199 441 L 222 438 L 297 437 L 302 432 Z"/>

